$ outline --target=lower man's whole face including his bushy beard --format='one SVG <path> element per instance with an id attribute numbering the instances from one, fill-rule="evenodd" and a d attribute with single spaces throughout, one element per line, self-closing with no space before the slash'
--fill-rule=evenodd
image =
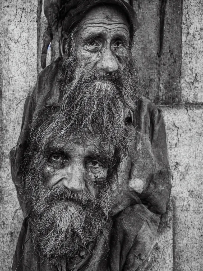
<path id="1" fill-rule="evenodd" d="M 60 138 L 40 146 L 26 175 L 32 241 L 42 257 L 70 258 L 97 240 L 107 222 L 116 180 L 106 177 L 114 148 Z"/>

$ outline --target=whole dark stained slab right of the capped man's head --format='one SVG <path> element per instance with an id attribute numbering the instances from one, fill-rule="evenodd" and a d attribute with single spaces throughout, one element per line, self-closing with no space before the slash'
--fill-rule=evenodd
<path id="1" fill-rule="evenodd" d="M 156 104 L 181 102 L 181 0 L 136 0 L 140 29 L 133 56 L 143 93 Z"/>

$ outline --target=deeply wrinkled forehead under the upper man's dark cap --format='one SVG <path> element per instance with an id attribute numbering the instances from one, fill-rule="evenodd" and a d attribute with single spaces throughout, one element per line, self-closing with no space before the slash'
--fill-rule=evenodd
<path id="1" fill-rule="evenodd" d="M 90 9 L 80 21 L 79 28 L 105 27 L 108 29 L 123 28 L 129 33 L 126 15 L 115 5 L 98 5 Z"/>

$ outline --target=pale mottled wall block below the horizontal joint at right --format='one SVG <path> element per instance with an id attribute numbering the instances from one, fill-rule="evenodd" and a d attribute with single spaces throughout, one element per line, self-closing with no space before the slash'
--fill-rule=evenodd
<path id="1" fill-rule="evenodd" d="M 173 202 L 173 270 L 201 271 L 203 108 L 164 108 Z"/>

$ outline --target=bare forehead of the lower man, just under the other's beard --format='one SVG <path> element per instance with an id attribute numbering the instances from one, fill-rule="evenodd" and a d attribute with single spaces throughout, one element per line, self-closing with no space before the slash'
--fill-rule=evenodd
<path id="1" fill-rule="evenodd" d="M 45 149 L 53 149 L 53 151 L 63 150 L 71 152 L 80 152 L 81 154 L 101 154 L 113 156 L 115 147 L 110 143 L 101 143 L 99 139 L 86 139 L 81 141 L 80 138 L 54 138 L 48 144 L 45 144 Z"/>

